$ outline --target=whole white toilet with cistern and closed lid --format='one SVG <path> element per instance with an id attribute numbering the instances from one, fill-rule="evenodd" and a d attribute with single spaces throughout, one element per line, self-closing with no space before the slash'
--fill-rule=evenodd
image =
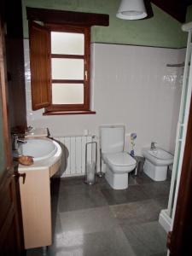
<path id="1" fill-rule="evenodd" d="M 100 126 L 101 157 L 106 164 L 105 178 L 113 189 L 128 188 L 128 172 L 136 168 L 136 160 L 124 151 L 125 126 Z"/>

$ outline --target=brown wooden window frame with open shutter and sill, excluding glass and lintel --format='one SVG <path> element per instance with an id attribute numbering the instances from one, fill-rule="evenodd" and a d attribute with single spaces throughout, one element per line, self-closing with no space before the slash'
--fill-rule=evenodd
<path id="1" fill-rule="evenodd" d="M 90 111 L 90 26 L 65 26 L 56 24 L 39 25 L 29 22 L 30 65 L 32 87 L 32 110 L 44 108 L 47 114 L 95 113 Z M 76 32 L 84 34 L 84 55 L 51 54 L 51 32 Z M 38 40 L 38 41 L 37 41 Z M 39 46 L 41 45 L 41 46 Z M 41 58 L 39 57 L 41 56 Z M 84 79 L 52 79 L 51 58 L 73 58 L 84 60 Z M 54 84 L 84 84 L 83 104 L 53 104 Z M 60 113 L 59 113 L 60 112 Z M 66 112 L 66 113 L 65 113 Z"/>

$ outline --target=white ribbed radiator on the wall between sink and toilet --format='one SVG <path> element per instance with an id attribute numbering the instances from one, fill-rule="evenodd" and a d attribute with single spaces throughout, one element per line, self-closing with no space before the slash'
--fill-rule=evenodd
<path id="1" fill-rule="evenodd" d="M 62 148 L 61 177 L 84 175 L 85 170 L 85 145 L 96 141 L 92 136 L 54 137 Z M 91 162 L 94 147 L 88 145 L 87 160 Z"/>

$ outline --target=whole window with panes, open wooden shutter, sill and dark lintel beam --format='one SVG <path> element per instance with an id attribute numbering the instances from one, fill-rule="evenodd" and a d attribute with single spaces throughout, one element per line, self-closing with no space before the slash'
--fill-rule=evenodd
<path id="1" fill-rule="evenodd" d="M 108 15 L 29 7 L 26 14 L 32 109 L 95 113 L 90 111 L 90 27 L 108 26 Z"/>

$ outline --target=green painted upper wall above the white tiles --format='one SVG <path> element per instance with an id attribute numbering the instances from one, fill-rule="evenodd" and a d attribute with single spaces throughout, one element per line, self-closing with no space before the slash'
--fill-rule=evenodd
<path id="1" fill-rule="evenodd" d="M 116 12 L 120 0 L 23 0 L 24 36 L 28 38 L 26 6 L 108 14 L 110 26 L 94 26 L 91 41 L 113 44 L 137 44 L 180 48 L 187 35 L 181 23 L 152 5 L 154 17 L 146 20 L 119 20 Z M 191 15 L 192 15 L 192 9 Z M 190 16 L 190 15 L 188 15 Z"/>

